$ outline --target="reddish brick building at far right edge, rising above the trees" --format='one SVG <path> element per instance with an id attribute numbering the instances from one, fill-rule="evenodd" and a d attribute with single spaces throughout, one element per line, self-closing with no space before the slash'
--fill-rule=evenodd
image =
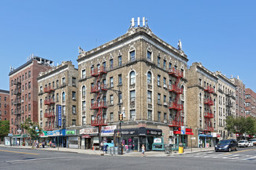
<path id="1" fill-rule="evenodd" d="M 252 89 L 245 89 L 245 114 L 256 118 L 256 93 Z"/>

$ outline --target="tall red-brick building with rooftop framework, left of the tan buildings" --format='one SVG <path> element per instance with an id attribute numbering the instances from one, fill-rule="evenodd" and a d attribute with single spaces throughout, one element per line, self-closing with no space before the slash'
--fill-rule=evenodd
<path id="1" fill-rule="evenodd" d="M 9 106 L 10 106 L 10 132 L 18 135 L 18 143 L 24 131 L 20 122 L 31 118 L 38 121 L 38 85 L 39 72 L 47 71 L 53 62 L 39 56 L 30 57 L 26 63 L 9 72 Z M 24 142 L 24 141 L 23 141 Z"/>

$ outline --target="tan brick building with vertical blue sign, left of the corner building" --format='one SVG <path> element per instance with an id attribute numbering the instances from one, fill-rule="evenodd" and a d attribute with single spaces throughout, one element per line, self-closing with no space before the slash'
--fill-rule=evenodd
<path id="1" fill-rule="evenodd" d="M 78 125 L 77 78 L 78 71 L 71 61 L 39 74 L 38 121 L 41 128 L 52 131 Z M 61 124 L 58 124 L 58 106 L 61 106 Z M 51 136 L 54 142 L 56 137 Z M 61 137 L 60 143 L 65 146 L 66 140 Z"/>

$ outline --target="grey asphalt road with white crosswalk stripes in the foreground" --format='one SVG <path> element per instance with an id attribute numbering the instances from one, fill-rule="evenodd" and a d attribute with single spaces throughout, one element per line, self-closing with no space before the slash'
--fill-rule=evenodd
<path id="1" fill-rule="evenodd" d="M 246 170 L 256 167 L 256 147 L 236 152 L 202 152 L 170 157 L 97 156 L 0 147 L 0 169 L 189 169 Z"/>

